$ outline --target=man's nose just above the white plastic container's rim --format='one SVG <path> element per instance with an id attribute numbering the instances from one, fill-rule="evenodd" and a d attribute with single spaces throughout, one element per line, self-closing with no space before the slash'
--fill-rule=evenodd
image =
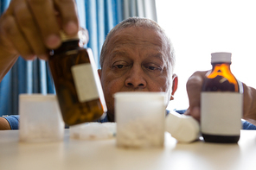
<path id="1" fill-rule="evenodd" d="M 144 71 L 141 66 L 132 66 L 128 73 L 127 79 L 125 79 L 125 85 L 132 88 L 144 88 L 146 86 L 146 80 L 144 77 Z"/>

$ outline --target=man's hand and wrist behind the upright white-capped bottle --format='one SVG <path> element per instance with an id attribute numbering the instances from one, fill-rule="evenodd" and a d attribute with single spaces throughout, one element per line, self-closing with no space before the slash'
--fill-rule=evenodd
<path id="1" fill-rule="evenodd" d="M 195 72 L 187 82 L 187 92 L 189 96 L 189 109 L 186 115 L 193 116 L 200 122 L 200 100 L 203 79 L 207 72 Z M 256 125 L 256 90 L 243 83 L 243 118 Z"/>

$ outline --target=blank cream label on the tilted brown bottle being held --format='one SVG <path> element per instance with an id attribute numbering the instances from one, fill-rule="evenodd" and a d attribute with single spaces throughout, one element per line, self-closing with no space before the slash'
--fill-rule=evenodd
<path id="1" fill-rule="evenodd" d="M 93 76 L 93 67 L 90 63 L 72 66 L 71 72 L 78 99 L 81 103 L 99 98 L 99 92 Z"/>

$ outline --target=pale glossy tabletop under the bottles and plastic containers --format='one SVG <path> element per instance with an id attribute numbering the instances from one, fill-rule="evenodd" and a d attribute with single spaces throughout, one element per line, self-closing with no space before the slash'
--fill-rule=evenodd
<path id="1" fill-rule="evenodd" d="M 177 143 L 165 133 L 163 148 L 127 149 L 116 147 L 115 138 L 63 142 L 19 142 L 18 130 L 0 131 L 1 170 L 65 169 L 256 169 L 256 130 L 241 130 L 237 144 L 215 144 L 199 140 Z"/>

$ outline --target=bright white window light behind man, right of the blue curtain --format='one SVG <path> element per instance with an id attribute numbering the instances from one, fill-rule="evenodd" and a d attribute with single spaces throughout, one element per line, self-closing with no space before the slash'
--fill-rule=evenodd
<path id="1" fill-rule="evenodd" d="M 211 69 L 210 54 L 232 53 L 231 71 L 256 87 L 256 9 L 254 0 L 156 0 L 157 22 L 176 50 L 179 77 L 169 109 L 187 109 L 186 82 L 195 71 Z"/>

